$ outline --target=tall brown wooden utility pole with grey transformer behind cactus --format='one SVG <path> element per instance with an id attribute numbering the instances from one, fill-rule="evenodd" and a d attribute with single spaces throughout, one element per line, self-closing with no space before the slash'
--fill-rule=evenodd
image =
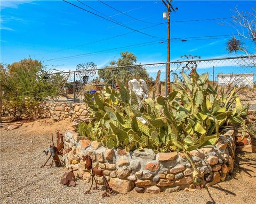
<path id="1" fill-rule="evenodd" d="M 167 75 L 167 87 L 166 87 L 166 94 L 169 95 L 171 90 L 171 79 L 170 79 L 170 12 L 171 9 L 175 12 L 176 10 L 178 10 L 178 8 L 173 8 L 173 6 L 171 5 L 171 2 L 167 1 L 167 0 L 162 0 L 162 2 L 164 3 L 164 5 L 167 8 L 167 12 L 163 13 L 163 18 L 166 19 L 167 18 L 167 63 L 166 63 L 166 75 Z"/>

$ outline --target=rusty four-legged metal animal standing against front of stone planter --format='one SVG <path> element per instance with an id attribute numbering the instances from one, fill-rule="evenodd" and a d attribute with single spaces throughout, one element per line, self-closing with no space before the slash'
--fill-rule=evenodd
<path id="1" fill-rule="evenodd" d="M 112 191 L 112 189 L 110 188 L 110 186 L 108 184 L 107 178 L 105 177 L 105 175 L 103 173 L 103 170 L 92 167 L 92 158 L 89 155 L 85 155 L 85 156 L 83 155 L 83 161 L 86 162 L 85 165 L 84 165 L 85 168 L 87 170 L 92 170 L 91 171 L 92 184 L 91 184 L 91 187 L 90 187 L 89 191 L 86 191 L 85 194 L 90 193 L 90 191 L 92 189 L 92 185 L 93 185 L 93 180 L 95 181 L 95 185 L 96 185 L 95 187 L 93 187 L 93 190 L 99 189 L 98 186 L 97 186 L 97 182 L 95 180 L 95 175 L 98 175 L 98 176 L 102 176 L 103 182 L 105 183 L 105 186 L 106 186 L 105 193 L 102 193 L 102 198 L 109 197 L 108 193 L 112 194 L 113 191 Z"/>

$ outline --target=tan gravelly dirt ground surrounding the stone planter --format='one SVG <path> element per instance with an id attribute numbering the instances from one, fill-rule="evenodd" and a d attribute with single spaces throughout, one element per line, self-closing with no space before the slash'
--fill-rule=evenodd
<path id="1" fill-rule="evenodd" d="M 256 154 L 238 155 L 228 181 L 195 192 L 116 194 L 101 198 L 102 190 L 84 194 L 89 184 L 60 185 L 64 167 L 40 168 L 51 133 L 64 132 L 70 123 L 50 119 L 24 123 L 18 129 L 1 128 L 1 203 L 255 203 Z"/>

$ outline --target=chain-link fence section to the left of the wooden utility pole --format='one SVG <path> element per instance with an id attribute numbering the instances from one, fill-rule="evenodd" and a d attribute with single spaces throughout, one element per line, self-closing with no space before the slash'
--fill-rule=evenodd
<path id="1" fill-rule="evenodd" d="M 158 70 L 161 71 L 161 75 L 156 94 L 165 96 L 166 63 L 157 63 L 94 69 L 95 74 L 92 77 L 87 75 L 87 72 L 91 70 L 59 72 L 58 74 L 62 75 L 65 82 L 61 84 L 59 95 L 48 100 L 80 103 L 83 102 L 86 92 L 100 91 L 106 85 L 116 88 L 116 79 L 122 81 L 125 86 L 132 79 L 145 80 L 149 89 L 149 97 L 151 97 Z"/>

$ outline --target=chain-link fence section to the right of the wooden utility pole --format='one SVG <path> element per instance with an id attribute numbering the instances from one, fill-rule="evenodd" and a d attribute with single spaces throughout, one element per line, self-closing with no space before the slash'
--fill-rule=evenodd
<path id="1" fill-rule="evenodd" d="M 256 57 L 239 56 L 215 59 L 197 59 L 170 63 L 171 81 L 181 72 L 189 74 L 196 67 L 198 74 L 209 73 L 210 83 L 219 86 L 219 91 L 229 94 L 233 89 L 244 105 L 256 110 Z"/>

